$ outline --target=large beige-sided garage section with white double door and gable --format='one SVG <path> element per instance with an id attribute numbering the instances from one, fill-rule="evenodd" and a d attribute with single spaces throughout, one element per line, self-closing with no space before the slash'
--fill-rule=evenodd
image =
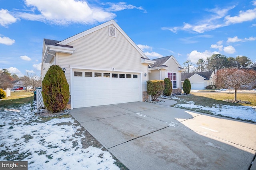
<path id="1" fill-rule="evenodd" d="M 153 63 L 111 20 L 63 41 L 44 39 L 41 75 L 53 64 L 66 68 L 71 109 L 142 102 Z"/>

